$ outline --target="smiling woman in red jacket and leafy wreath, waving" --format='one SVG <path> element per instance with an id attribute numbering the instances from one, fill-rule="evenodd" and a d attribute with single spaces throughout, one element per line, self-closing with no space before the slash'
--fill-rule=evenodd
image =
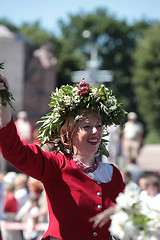
<path id="1" fill-rule="evenodd" d="M 0 91 L 4 89 L 0 83 Z M 44 185 L 49 227 L 43 239 L 109 240 L 110 215 L 124 182 L 119 170 L 99 156 L 108 154 L 106 127 L 119 124 L 125 112 L 104 85 L 95 88 L 84 79 L 52 92 L 50 108 L 39 121 L 39 140 L 53 144 L 54 151 L 44 152 L 20 140 L 9 104 L 1 105 L 2 154 Z"/>

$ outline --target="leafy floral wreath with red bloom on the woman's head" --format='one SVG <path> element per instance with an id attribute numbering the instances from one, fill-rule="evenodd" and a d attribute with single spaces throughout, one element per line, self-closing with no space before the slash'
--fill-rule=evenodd
<path id="1" fill-rule="evenodd" d="M 83 118 L 80 113 L 82 109 L 96 111 L 102 121 L 103 128 L 112 124 L 120 125 L 126 115 L 122 109 L 123 104 L 117 103 L 117 99 L 104 85 L 98 88 L 85 83 L 85 79 L 76 86 L 63 85 L 56 88 L 51 93 L 49 107 L 52 111 L 43 116 L 37 124 L 39 128 L 39 141 L 41 145 L 53 144 L 53 150 L 68 153 L 68 148 L 64 146 L 60 138 L 60 130 L 69 116 L 73 116 L 75 121 Z M 105 132 L 105 131 L 104 131 Z M 104 134 L 99 145 L 98 153 L 109 156 L 106 150 L 107 140 Z"/>

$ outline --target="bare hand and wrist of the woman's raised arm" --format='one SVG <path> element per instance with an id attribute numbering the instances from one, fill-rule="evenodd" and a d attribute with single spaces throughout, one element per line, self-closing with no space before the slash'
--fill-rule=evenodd
<path id="1" fill-rule="evenodd" d="M 0 91 L 5 90 L 5 84 L 9 88 L 9 84 L 6 80 L 6 78 L 2 77 L 0 75 Z M 11 107 L 9 104 L 6 106 L 2 106 L 2 99 L 0 95 L 0 128 L 4 127 L 6 124 L 8 124 L 11 121 L 12 114 L 11 114 Z"/>

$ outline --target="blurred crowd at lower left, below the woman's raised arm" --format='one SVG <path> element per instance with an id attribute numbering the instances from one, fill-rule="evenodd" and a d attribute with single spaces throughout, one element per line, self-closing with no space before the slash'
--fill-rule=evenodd
<path id="1" fill-rule="evenodd" d="M 2 227 L 2 239 L 41 239 L 45 230 L 38 231 L 36 224 L 48 223 L 47 200 L 42 183 L 23 173 L 12 171 L 4 174 L 3 178 L 1 176 L 1 184 L 1 220 L 5 223 L 25 223 L 18 229 L 16 225 L 14 229 Z"/>

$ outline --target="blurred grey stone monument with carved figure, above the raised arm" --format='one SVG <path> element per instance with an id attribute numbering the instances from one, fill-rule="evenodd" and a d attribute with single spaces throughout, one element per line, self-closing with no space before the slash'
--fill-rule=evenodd
<path id="1" fill-rule="evenodd" d="M 52 54 L 52 46 L 46 44 L 39 49 L 0 25 L 0 62 L 4 63 L 1 74 L 5 76 L 16 101 L 16 111 L 28 112 L 35 123 L 49 111 L 51 91 L 56 86 L 57 60 Z"/>

